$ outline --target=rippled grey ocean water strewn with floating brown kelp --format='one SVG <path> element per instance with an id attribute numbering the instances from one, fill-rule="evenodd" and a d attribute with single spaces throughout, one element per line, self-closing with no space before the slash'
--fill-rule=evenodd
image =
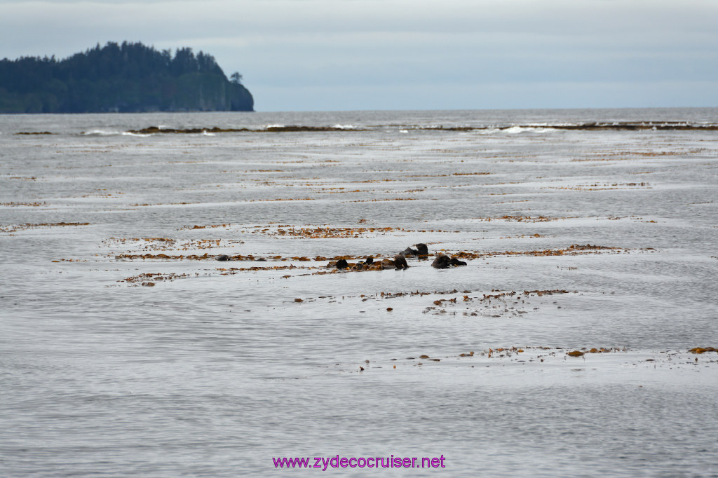
<path id="1" fill-rule="evenodd" d="M 717 477 L 717 125 L 0 116 L 0 474 Z"/>

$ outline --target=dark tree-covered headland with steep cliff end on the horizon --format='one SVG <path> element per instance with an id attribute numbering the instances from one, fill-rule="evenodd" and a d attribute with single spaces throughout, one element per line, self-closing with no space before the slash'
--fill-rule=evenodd
<path id="1" fill-rule="evenodd" d="M 253 111 L 242 75 L 214 57 L 141 43 L 97 44 L 65 60 L 0 60 L 0 113 Z"/>

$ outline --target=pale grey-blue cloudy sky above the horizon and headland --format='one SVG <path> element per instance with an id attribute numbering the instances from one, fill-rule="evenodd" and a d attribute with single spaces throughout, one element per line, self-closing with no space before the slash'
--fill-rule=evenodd
<path id="1" fill-rule="evenodd" d="M 0 0 L 0 58 L 123 40 L 257 111 L 718 106 L 718 0 Z"/>

